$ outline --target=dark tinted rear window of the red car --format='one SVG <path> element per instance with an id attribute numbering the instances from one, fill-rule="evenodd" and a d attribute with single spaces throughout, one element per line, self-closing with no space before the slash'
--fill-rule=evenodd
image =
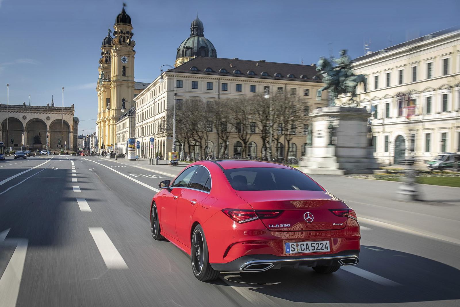
<path id="1" fill-rule="evenodd" d="M 310 177 L 287 168 L 231 168 L 224 174 L 237 191 L 324 191 Z"/>

